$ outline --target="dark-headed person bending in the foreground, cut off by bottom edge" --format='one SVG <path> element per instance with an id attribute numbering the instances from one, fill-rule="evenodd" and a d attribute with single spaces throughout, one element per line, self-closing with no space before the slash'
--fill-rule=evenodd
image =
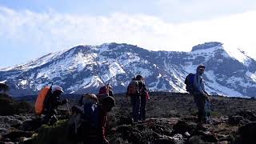
<path id="1" fill-rule="evenodd" d="M 84 106 L 83 143 L 102 144 L 109 143 L 106 139 L 107 113 L 114 107 L 113 97 L 102 98 L 100 104 Z"/>

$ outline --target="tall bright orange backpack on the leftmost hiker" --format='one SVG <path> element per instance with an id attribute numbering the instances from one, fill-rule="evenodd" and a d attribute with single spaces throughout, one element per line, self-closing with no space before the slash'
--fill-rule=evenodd
<path id="1" fill-rule="evenodd" d="M 44 102 L 46 100 L 46 96 L 48 95 L 48 92 L 51 92 L 50 86 L 43 87 L 38 94 L 38 98 L 34 104 L 34 110 L 35 114 L 41 115 L 44 110 Z"/>

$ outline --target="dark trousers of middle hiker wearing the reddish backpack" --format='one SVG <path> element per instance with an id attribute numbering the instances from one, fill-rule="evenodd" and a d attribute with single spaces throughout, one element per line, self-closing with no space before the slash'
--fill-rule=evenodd
<path id="1" fill-rule="evenodd" d="M 140 97 L 138 95 L 130 96 L 130 102 L 132 105 L 132 116 L 134 118 L 134 122 L 138 122 L 139 119 L 139 107 L 140 107 Z"/>

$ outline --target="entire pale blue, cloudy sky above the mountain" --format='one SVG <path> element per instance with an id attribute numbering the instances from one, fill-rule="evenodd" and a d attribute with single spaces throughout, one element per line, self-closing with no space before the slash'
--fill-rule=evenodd
<path id="1" fill-rule="evenodd" d="M 254 56 L 255 18 L 251 0 L 0 0 L 0 68 L 104 42 L 190 51 L 218 41 Z"/>

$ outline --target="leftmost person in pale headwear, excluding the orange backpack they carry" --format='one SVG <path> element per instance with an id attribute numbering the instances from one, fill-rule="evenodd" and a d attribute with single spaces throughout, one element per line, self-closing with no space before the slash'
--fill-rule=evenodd
<path id="1" fill-rule="evenodd" d="M 51 90 L 51 94 L 47 96 L 44 102 L 44 112 L 46 116 L 43 118 L 43 123 L 53 125 L 54 122 L 58 121 L 57 108 L 59 105 L 64 105 L 68 102 L 67 99 L 60 101 L 60 95 L 63 93 L 61 86 L 54 86 Z"/>

